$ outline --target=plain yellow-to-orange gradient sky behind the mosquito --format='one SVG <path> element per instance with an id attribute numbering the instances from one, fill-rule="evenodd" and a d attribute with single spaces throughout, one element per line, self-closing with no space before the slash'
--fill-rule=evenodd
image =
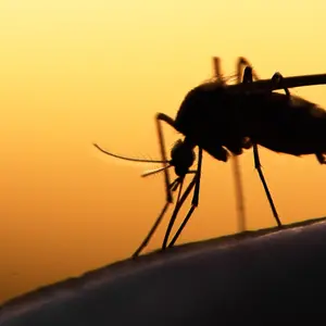
<path id="1" fill-rule="evenodd" d="M 0 302 L 127 258 L 164 204 L 154 114 L 246 55 L 266 78 L 326 73 L 324 1 L 2 0 Z M 325 22 L 325 23 L 323 23 Z M 326 106 L 326 87 L 293 93 Z M 167 146 L 177 139 L 168 127 Z M 325 167 L 261 150 L 285 223 L 325 215 Z M 248 226 L 274 226 L 251 152 L 240 159 Z M 160 166 L 160 165 L 159 165 Z M 231 164 L 204 155 L 200 208 L 179 242 L 237 230 Z M 163 228 L 162 228 L 163 229 Z M 160 244 L 159 231 L 148 249 Z"/>

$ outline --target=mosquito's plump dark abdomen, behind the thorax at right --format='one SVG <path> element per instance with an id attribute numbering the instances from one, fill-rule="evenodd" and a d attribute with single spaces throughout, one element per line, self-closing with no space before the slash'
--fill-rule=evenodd
<path id="1" fill-rule="evenodd" d="M 274 93 L 256 112 L 254 142 L 292 155 L 326 151 L 326 111 L 315 103 Z"/>

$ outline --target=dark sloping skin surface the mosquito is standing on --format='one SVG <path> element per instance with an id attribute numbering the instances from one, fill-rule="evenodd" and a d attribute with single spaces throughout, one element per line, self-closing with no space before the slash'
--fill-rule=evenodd
<path id="1" fill-rule="evenodd" d="M 123 261 L 9 302 L 0 325 L 312 321 L 324 314 L 325 235 L 324 218 Z"/>

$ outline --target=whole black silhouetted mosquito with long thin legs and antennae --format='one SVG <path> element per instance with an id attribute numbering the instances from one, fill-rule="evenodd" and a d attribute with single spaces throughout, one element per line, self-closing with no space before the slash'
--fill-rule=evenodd
<path id="1" fill-rule="evenodd" d="M 114 158 L 163 165 L 161 168 L 143 174 L 148 176 L 159 172 L 164 173 L 166 203 L 133 258 L 138 256 L 150 241 L 168 205 L 173 203 L 173 193 L 177 190 L 176 204 L 164 236 L 162 250 L 173 247 L 178 239 L 199 204 L 203 151 L 218 161 L 227 162 L 230 154 L 237 156 L 244 149 L 252 148 L 254 166 L 279 227 L 281 222 L 261 168 L 258 146 L 297 156 L 315 154 L 321 164 L 326 163 L 326 111 L 289 92 L 289 88 L 326 84 L 326 74 L 283 77 L 280 73 L 275 73 L 272 78 L 262 80 L 258 78 L 246 58 L 240 57 L 237 65 L 237 78 L 242 83 L 226 85 L 217 77 L 191 89 L 181 102 L 175 120 L 164 113 L 155 115 L 161 160 L 121 156 L 95 143 L 99 150 Z M 281 89 L 285 93 L 274 92 Z M 164 143 L 163 122 L 185 136 L 173 146 L 170 160 Z M 196 161 L 196 147 L 198 148 L 197 168 L 190 170 Z M 174 167 L 176 174 L 172 183 L 170 167 Z M 190 174 L 193 175 L 192 179 L 183 192 L 185 177 Z M 177 214 L 192 190 L 191 206 L 168 242 Z"/>

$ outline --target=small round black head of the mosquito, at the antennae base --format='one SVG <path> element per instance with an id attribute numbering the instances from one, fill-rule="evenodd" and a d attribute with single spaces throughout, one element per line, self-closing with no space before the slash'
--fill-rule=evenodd
<path id="1" fill-rule="evenodd" d="M 176 175 L 185 176 L 195 160 L 193 147 L 181 139 L 177 140 L 171 150 L 171 165 L 174 166 Z"/>

